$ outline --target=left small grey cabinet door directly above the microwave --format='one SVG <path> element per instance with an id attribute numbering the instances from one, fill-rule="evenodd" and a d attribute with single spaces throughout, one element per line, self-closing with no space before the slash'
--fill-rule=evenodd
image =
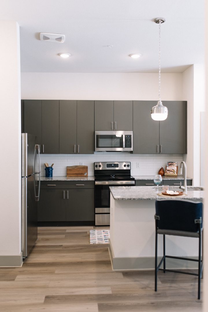
<path id="1" fill-rule="evenodd" d="M 114 129 L 114 101 L 94 101 L 94 129 Z"/>

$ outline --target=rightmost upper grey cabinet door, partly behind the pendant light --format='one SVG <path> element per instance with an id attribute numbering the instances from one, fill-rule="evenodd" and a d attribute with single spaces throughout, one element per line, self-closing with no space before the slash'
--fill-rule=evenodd
<path id="1" fill-rule="evenodd" d="M 160 153 L 186 154 L 186 101 L 163 101 L 168 116 L 160 121 Z"/>

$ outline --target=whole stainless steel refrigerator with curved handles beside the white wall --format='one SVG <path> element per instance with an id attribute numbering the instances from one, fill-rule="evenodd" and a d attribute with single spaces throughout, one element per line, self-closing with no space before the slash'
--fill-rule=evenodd
<path id="1" fill-rule="evenodd" d="M 27 257 L 37 240 L 40 195 L 40 149 L 36 136 L 22 133 L 22 254 Z"/>

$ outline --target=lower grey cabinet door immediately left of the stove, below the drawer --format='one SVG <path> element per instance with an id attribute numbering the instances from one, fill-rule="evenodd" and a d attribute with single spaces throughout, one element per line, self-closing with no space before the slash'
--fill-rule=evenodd
<path id="1" fill-rule="evenodd" d="M 66 221 L 94 221 L 94 189 L 69 189 Z"/>

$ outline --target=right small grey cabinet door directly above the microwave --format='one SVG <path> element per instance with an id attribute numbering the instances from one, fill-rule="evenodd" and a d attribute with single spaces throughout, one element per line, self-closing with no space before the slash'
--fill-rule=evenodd
<path id="1" fill-rule="evenodd" d="M 133 130 L 133 101 L 114 101 L 114 130 Z"/>

